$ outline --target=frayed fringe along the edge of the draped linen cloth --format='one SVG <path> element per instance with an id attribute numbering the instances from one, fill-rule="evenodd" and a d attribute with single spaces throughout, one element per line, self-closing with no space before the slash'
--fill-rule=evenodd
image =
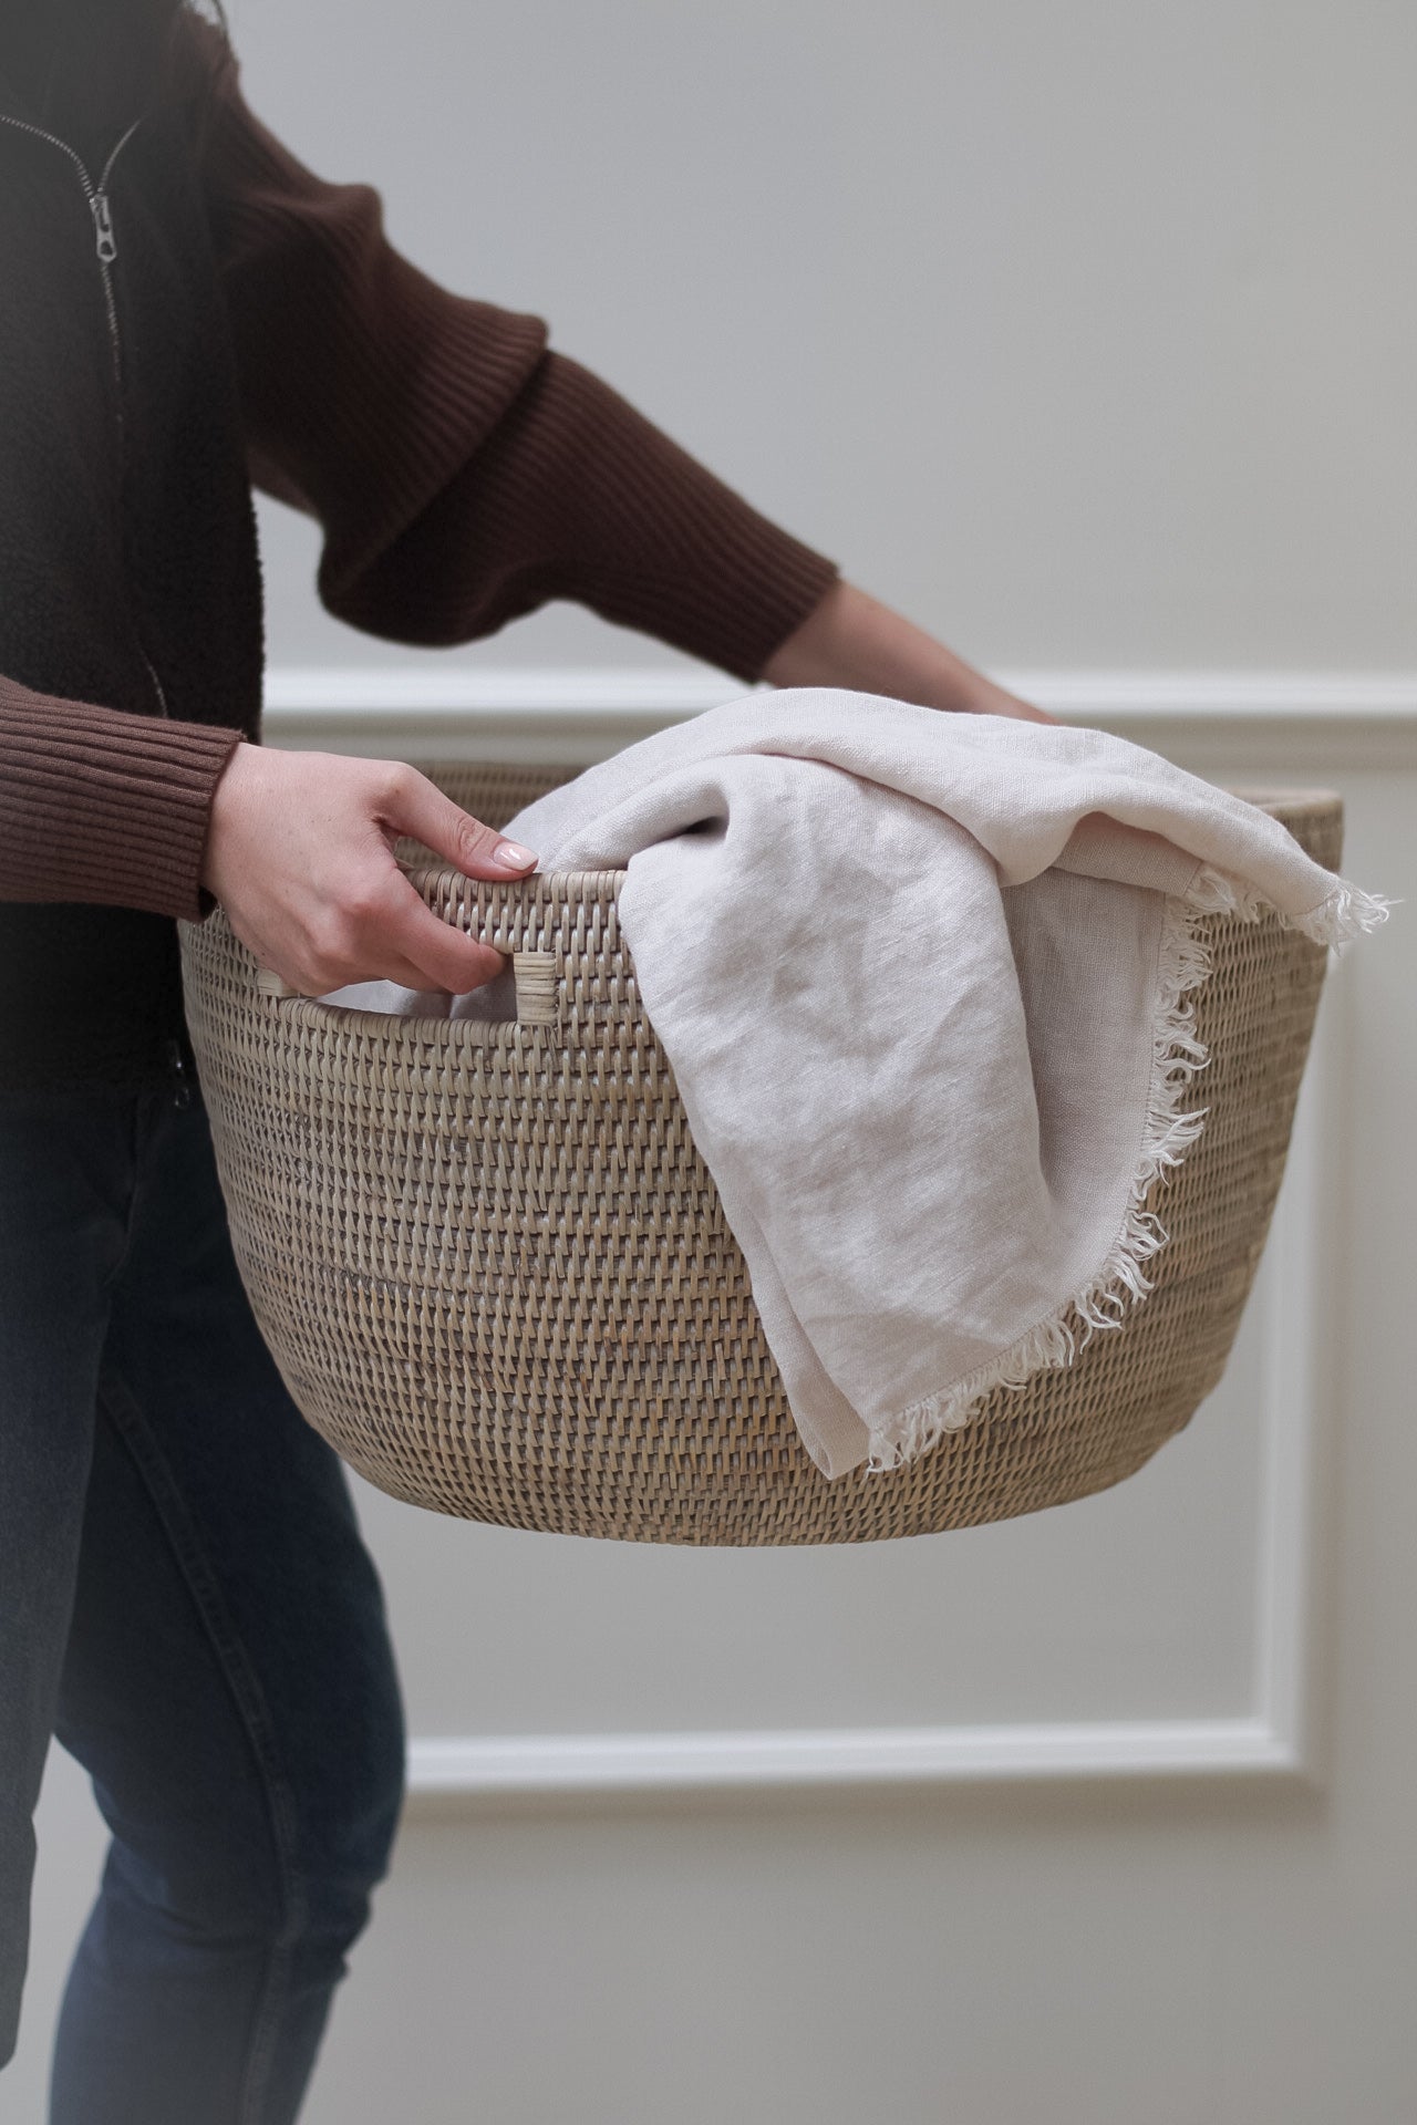
<path id="1" fill-rule="evenodd" d="M 1196 990 L 1211 975 L 1207 918 L 1258 922 L 1275 916 L 1283 929 L 1298 929 L 1315 944 L 1343 952 L 1353 937 L 1385 922 L 1394 905 L 1398 903 L 1341 880 L 1317 907 L 1290 916 L 1247 880 L 1211 865 L 1200 867 L 1183 897 L 1166 899 L 1151 1020 L 1151 1084 L 1122 1230 L 1096 1275 L 1047 1320 L 1037 1322 L 979 1371 L 877 1426 L 865 1464 L 871 1475 L 886 1475 L 928 1454 L 945 1432 L 960 1430 L 996 1388 L 1020 1390 L 1035 1373 L 1071 1364 L 1098 1328 L 1120 1328 L 1151 1290 L 1143 1264 L 1166 1245 L 1168 1232 L 1156 1211 L 1147 1209 L 1147 1196 L 1162 1173 L 1185 1160 L 1209 1114 L 1209 1107 L 1181 1111 L 1185 1090 L 1211 1060 L 1196 1039 Z"/>

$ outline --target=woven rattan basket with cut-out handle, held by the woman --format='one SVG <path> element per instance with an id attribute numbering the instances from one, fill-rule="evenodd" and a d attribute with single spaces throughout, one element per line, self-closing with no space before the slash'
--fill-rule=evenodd
<path id="1" fill-rule="evenodd" d="M 427 771 L 491 824 L 574 774 Z M 1336 867 L 1336 797 L 1247 795 Z M 1215 971 L 1196 1014 L 1209 1118 L 1160 1190 L 1171 1243 L 1149 1264 L 1151 1296 L 916 1464 L 826 1483 L 639 1007 L 620 873 L 414 876 L 442 916 L 514 954 L 516 1020 L 280 999 L 221 914 L 183 931 L 255 1315 L 300 1409 L 372 1483 L 561 1534 L 858 1543 L 1117 1483 L 1217 1383 L 1324 982 L 1326 952 L 1298 931 L 1211 920 Z"/>

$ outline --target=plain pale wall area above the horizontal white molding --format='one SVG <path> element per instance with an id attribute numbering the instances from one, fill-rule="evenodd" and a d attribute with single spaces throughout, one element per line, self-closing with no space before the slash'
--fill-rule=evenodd
<path id="1" fill-rule="evenodd" d="M 236 23 L 253 102 L 421 264 L 977 659 L 1417 663 L 1406 0 Z M 348 661 L 306 559 L 272 542 L 272 654 Z M 493 648 L 631 652 L 567 618 Z"/>

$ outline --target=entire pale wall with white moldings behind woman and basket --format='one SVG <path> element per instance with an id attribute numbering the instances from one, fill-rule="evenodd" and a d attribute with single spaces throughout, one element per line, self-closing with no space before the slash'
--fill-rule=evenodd
<path id="1" fill-rule="evenodd" d="M 1347 867 L 1413 901 L 1406 6 L 236 0 L 234 23 L 257 108 L 380 183 L 429 270 L 548 314 L 979 661 L 1217 780 L 1341 786 Z M 363 642 L 314 606 L 308 527 L 263 531 L 276 695 L 325 703 L 276 740 L 446 748 L 399 716 L 463 667 L 470 701 L 554 701 L 586 756 L 614 737 L 597 672 L 690 699 L 667 650 L 576 612 L 450 659 Z M 457 735 L 516 746 L 489 729 Z M 1411 926 L 1332 982 L 1226 1386 L 1115 1494 L 748 1558 L 365 1500 L 421 1798 L 312 2125 L 1417 2114 Z M 907 1617 L 888 1645 L 873 1606 Z M 933 1768 L 892 1785 L 903 1734 Z M 701 1789 L 667 1783 L 676 1736 Z M 771 1783 L 784 1736 L 818 1783 Z M 17 2125 L 98 1864 L 62 1762 L 42 1840 Z"/>

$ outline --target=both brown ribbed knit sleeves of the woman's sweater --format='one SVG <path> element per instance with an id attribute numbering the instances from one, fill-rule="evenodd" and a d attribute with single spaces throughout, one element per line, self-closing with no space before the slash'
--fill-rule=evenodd
<path id="1" fill-rule="evenodd" d="M 578 599 L 754 680 L 835 565 L 550 353 L 540 319 L 433 285 L 387 242 L 378 196 L 312 176 L 249 113 L 225 47 L 198 49 L 249 470 L 323 525 L 325 606 L 433 646 Z M 0 899 L 204 914 L 212 790 L 257 718 L 132 714 L 0 674 Z"/>

